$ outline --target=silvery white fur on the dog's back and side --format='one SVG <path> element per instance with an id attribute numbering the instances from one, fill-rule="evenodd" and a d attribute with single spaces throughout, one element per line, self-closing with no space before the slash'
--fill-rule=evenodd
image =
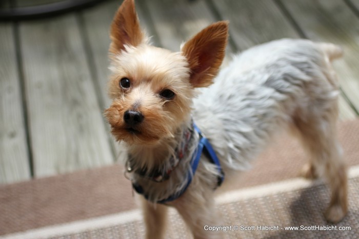
<path id="1" fill-rule="evenodd" d="M 336 75 L 328 68 L 331 55 L 325 46 L 341 54 L 337 46 L 304 39 L 250 48 L 234 56 L 214 84 L 194 99 L 193 118 L 225 168 L 248 168 L 273 132 L 292 123 L 298 110 L 303 120 L 313 114 L 320 118 L 336 104 Z M 309 87 L 318 98 L 309 97 Z"/>

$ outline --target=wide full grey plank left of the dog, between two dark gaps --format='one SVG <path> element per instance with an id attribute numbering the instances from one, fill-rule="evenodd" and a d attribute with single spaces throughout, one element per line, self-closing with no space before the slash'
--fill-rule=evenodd
<path id="1" fill-rule="evenodd" d="M 36 177 L 113 162 L 74 14 L 20 26 Z"/>

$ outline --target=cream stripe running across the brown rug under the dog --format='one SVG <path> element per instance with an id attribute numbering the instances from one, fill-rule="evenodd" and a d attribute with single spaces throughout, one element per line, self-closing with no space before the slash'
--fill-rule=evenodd
<path id="1" fill-rule="evenodd" d="M 348 178 L 354 177 L 359 177 L 359 165 L 352 166 L 349 168 Z M 321 181 L 311 182 L 309 180 L 305 180 L 299 177 L 291 178 L 289 180 L 281 182 L 274 182 L 266 185 L 229 191 L 218 195 L 216 197 L 216 203 L 232 203 L 238 200 L 247 200 L 248 198 L 261 197 L 275 193 L 288 192 L 292 190 L 300 190 L 304 188 L 314 187 L 320 184 L 322 184 Z M 175 209 L 171 209 L 170 213 L 175 213 Z M 111 227 L 119 224 L 121 225 L 136 220 L 142 220 L 142 212 L 140 209 L 133 209 L 121 213 L 88 218 L 86 220 L 74 221 L 61 225 L 46 226 L 23 232 L 5 234 L 0 236 L 0 239 L 48 238 L 60 235 L 69 235 L 73 233 L 82 233 L 88 230 Z"/>

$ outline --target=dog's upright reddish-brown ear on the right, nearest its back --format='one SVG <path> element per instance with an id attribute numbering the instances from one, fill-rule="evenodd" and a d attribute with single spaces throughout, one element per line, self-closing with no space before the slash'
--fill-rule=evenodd
<path id="1" fill-rule="evenodd" d="M 193 87 L 206 87 L 213 83 L 225 56 L 228 21 L 214 23 L 182 47 L 182 54 L 189 63 L 190 82 Z"/>

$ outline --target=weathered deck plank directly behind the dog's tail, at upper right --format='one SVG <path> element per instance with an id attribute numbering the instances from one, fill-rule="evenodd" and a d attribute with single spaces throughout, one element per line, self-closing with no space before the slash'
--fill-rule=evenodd
<path id="1" fill-rule="evenodd" d="M 344 58 L 334 63 L 342 90 L 359 111 L 359 19 L 343 2 L 336 0 L 288 0 L 289 10 L 303 32 L 314 41 L 332 42 L 344 48 Z"/>

